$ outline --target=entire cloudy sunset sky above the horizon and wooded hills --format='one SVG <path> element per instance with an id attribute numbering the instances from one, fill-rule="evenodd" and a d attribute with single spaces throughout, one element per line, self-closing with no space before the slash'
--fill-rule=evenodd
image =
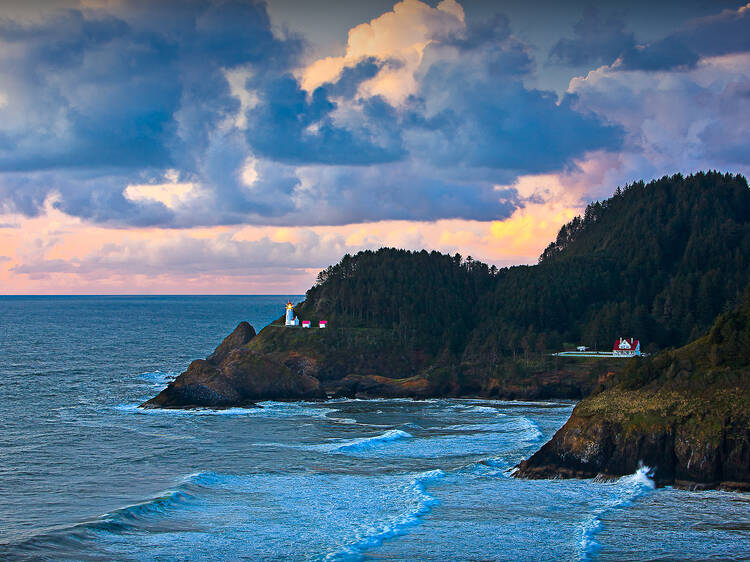
<path id="1" fill-rule="evenodd" d="M 750 4 L 3 0 L 0 294 L 299 294 L 535 263 L 617 186 L 750 173 Z"/>

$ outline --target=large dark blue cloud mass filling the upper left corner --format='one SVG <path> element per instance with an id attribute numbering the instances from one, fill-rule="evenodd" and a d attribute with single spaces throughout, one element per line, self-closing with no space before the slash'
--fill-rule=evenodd
<path id="1" fill-rule="evenodd" d="M 239 110 L 224 69 L 275 72 L 302 47 L 274 37 L 263 4 L 242 1 L 6 19 L 0 44 L 0 172 L 14 172 L 0 179 L 3 207 L 33 215 L 55 191 L 66 212 L 133 225 L 168 224 L 171 212 L 123 188 L 169 168 L 200 173 L 213 131 Z"/>

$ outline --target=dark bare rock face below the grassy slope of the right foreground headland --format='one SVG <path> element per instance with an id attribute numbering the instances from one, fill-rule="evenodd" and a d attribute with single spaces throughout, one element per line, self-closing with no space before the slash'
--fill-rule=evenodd
<path id="1" fill-rule="evenodd" d="M 618 402 L 608 394 L 601 398 Z M 625 397 L 644 398 L 658 400 Z M 674 395 L 671 400 L 669 409 L 674 409 L 691 398 Z M 659 485 L 750 491 L 750 418 L 733 415 L 731 402 L 723 404 L 730 408 L 703 404 L 684 416 L 648 409 L 619 416 L 599 409 L 574 411 L 549 443 L 519 465 L 517 476 L 617 477 L 643 464 L 654 469 Z"/>

